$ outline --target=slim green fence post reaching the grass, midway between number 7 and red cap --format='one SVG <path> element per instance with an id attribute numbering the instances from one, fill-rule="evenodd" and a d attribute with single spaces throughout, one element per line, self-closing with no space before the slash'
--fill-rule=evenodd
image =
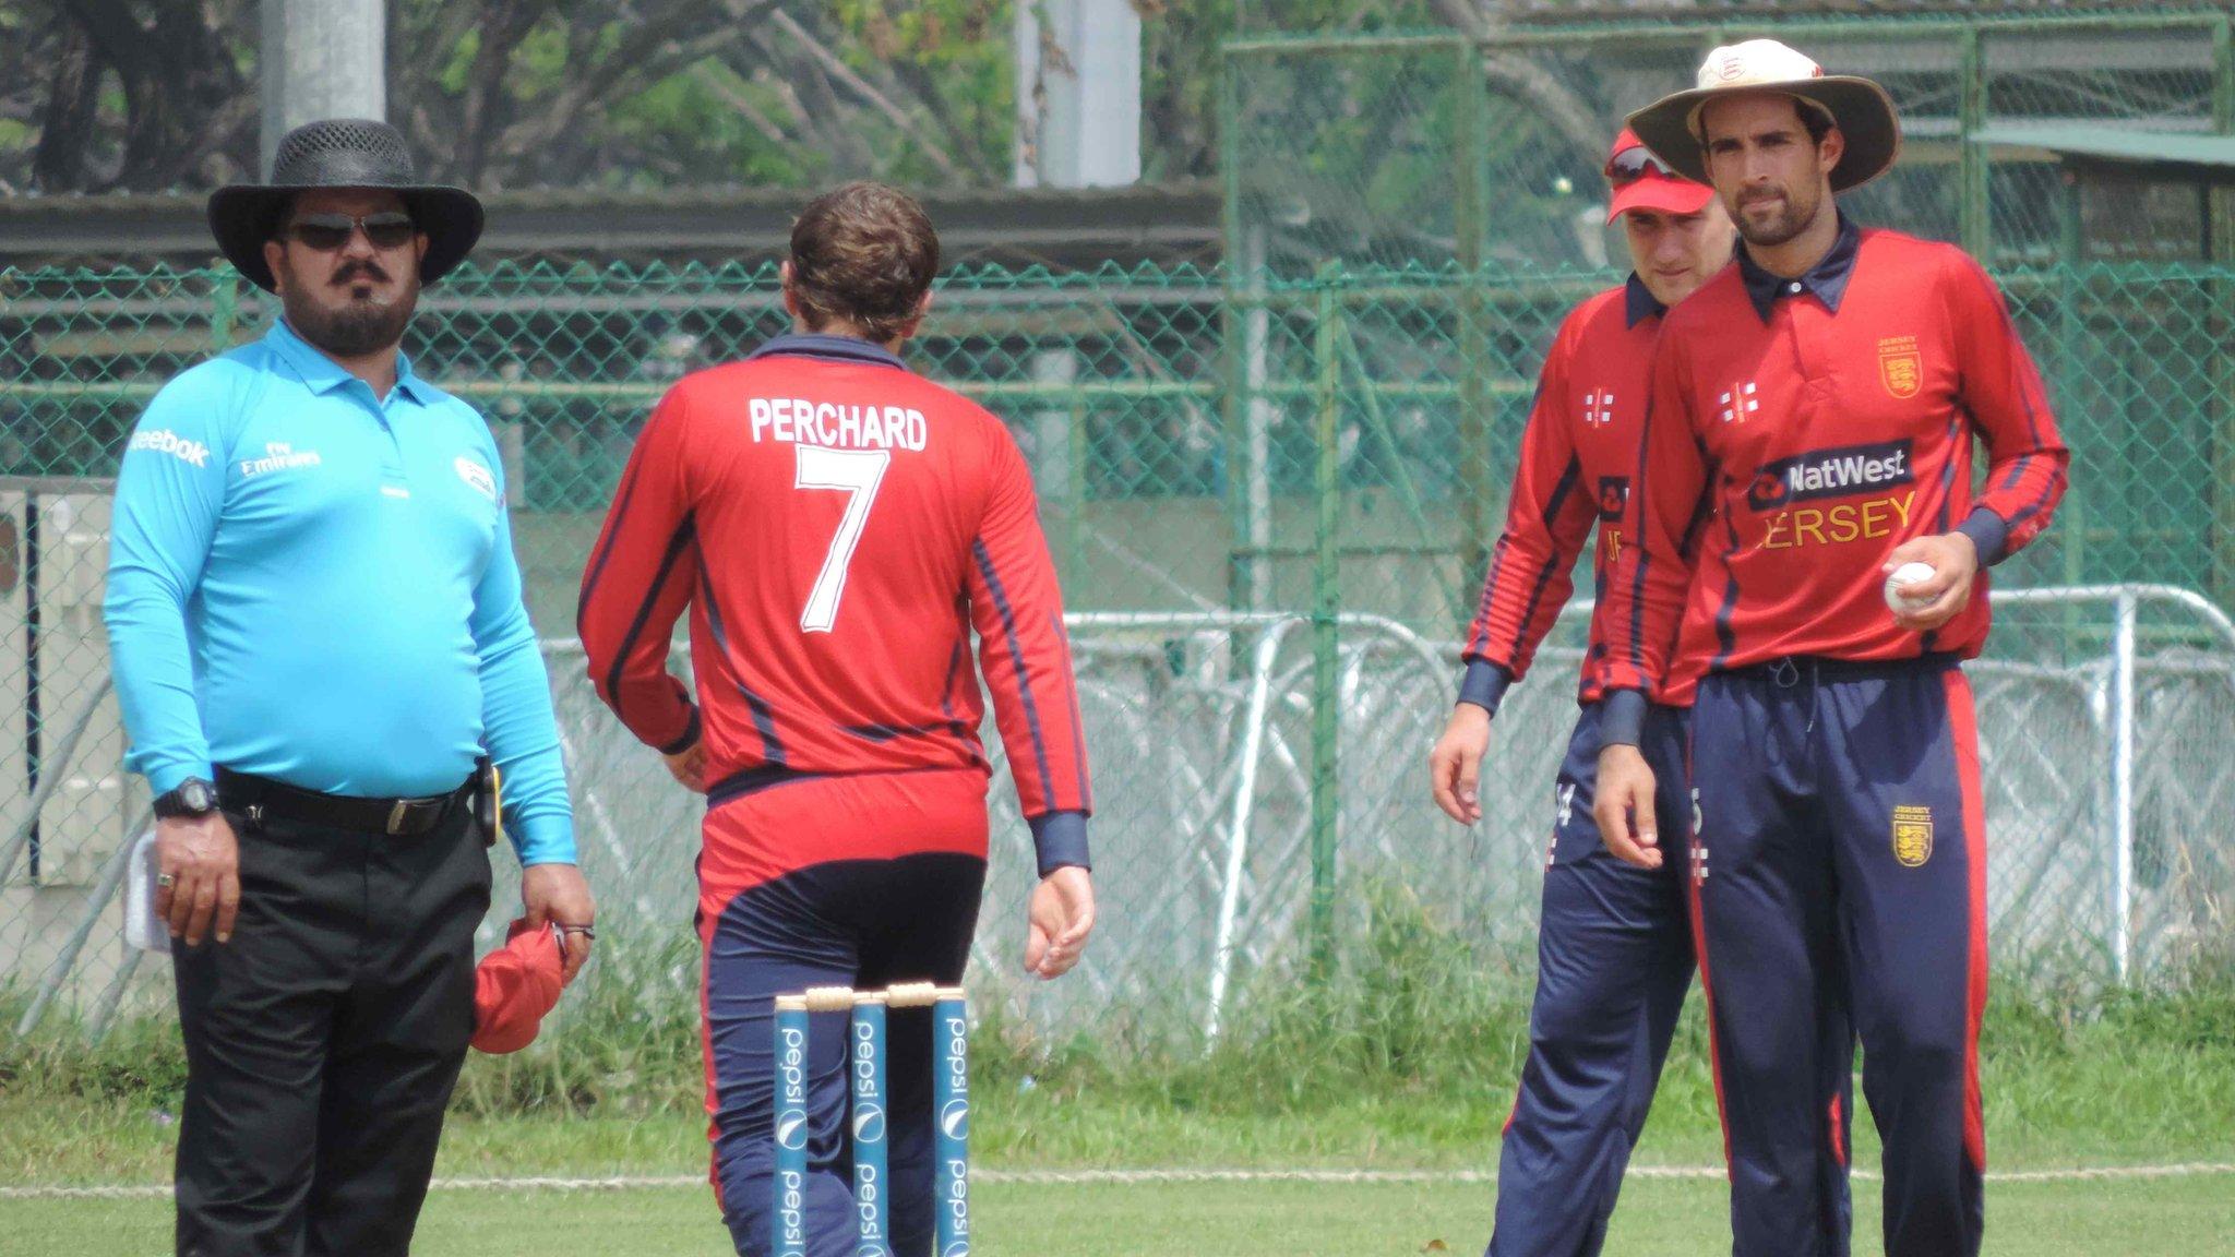
<path id="1" fill-rule="evenodd" d="M 1312 975 L 1325 980 L 1334 971 L 1334 841 L 1341 816 L 1337 743 L 1341 740 L 1341 693 L 1337 651 L 1341 649 L 1337 617 L 1343 611 L 1341 590 L 1341 387 L 1343 360 L 1339 320 L 1341 268 L 1330 262 L 1319 268 L 1319 327 L 1312 340 L 1319 367 L 1316 425 L 1319 463 L 1312 492 L 1319 499 L 1312 559 Z"/>

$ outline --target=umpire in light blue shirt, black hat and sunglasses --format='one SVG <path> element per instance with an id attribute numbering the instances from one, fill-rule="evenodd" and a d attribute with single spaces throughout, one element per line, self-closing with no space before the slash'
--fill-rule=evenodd
<path id="1" fill-rule="evenodd" d="M 481 204 L 418 183 L 396 130 L 324 121 L 208 212 L 284 318 L 148 405 L 107 588 L 183 944 L 177 1244 L 407 1253 L 474 1033 L 485 763 L 527 917 L 561 928 L 568 977 L 590 955 L 503 461 L 398 353 Z"/>

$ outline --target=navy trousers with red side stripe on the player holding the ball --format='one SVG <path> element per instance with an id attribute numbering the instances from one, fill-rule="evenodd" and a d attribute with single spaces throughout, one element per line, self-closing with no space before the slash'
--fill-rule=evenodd
<path id="1" fill-rule="evenodd" d="M 1692 886 L 1737 1257 L 1826 1253 L 1817 1165 L 1846 1143 L 1826 1018 L 1862 1040 L 1886 1257 L 1971 1257 L 1985 1203 L 1978 1024 L 1987 848 L 1953 660 L 1779 660 L 1701 682 Z M 1712 765 L 1712 769 L 1708 767 Z"/>

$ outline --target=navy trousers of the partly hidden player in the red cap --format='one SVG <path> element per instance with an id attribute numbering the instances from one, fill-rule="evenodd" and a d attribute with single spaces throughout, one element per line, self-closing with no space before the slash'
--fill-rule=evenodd
<path id="1" fill-rule="evenodd" d="M 1529 1060 L 1497 1159 L 1491 1257 L 1600 1250 L 1692 984 L 1685 713 L 1654 707 L 1640 749 L 1658 778 L 1658 832 L 1674 857 L 1661 870 L 1623 863 L 1598 841 L 1598 705 L 1582 709 L 1560 765 Z M 1846 1042 L 1844 1022 L 1833 1033 Z M 1844 1165 L 1826 1156 L 1822 1174 L 1844 1210 Z M 1846 1235 L 1844 1212 L 1837 1235 Z"/>

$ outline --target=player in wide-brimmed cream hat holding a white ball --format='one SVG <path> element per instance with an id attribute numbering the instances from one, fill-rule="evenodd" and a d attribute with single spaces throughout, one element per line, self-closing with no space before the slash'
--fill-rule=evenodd
<path id="1" fill-rule="evenodd" d="M 1882 87 L 1752 40 L 1629 123 L 1743 244 L 1661 327 L 1638 544 L 1607 588 L 1598 823 L 1663 861 L 1638 716 L 1701 678 L 1690 883 L 1734 1253 L 1824 1253 L 1815 1165 L 1844 1154 L 1844 1114 L 1815 1027 L 1835 1011 L 1884 1143 L 1886 1255 L 1969 1257 L 1987 834 L 1960 662 L 1987 642 L 1985 568 L 2047 528 L 2070 456 L 1985 271 L 1839 212 L 1900 150 Z M 1931 575 L 1889 611 L 1904 564 Z"/>

